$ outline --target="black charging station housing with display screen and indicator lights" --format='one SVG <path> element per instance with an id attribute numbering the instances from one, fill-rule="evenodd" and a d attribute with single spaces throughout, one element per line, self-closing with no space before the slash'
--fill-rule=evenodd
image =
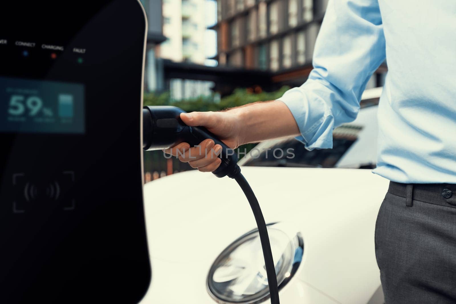
<path id="1" fill-rule="evenodd" d="M 0 14 L 0 303 L 137 303 L 151 280 L 144 10 L 2 1 Z"/>

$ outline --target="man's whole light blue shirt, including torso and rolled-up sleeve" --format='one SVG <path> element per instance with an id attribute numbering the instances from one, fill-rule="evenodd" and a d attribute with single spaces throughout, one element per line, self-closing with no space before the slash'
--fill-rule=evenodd
<path id="1" fill-rule="evenodd" d="M 387 58 L 374 173 L 401 183 L 456 184 L 456 1 L 330 0 L 314 69 L 279 100 L 307 149 L 332 148 Z"/>

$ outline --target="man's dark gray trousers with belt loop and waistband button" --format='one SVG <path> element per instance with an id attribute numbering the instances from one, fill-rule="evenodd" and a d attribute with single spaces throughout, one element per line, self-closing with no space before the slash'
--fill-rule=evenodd
<path id="1" fill-rule="evenodd" d="M 386 304 L 456 303 L 456 185 L 391 182 L 375 254 Z"/>

